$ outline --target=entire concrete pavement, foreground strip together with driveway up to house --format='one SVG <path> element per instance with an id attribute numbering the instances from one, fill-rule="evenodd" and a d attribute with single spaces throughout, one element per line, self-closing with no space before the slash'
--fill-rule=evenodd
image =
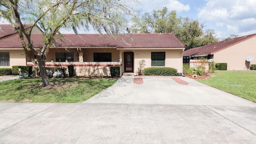
<path id="1" fill-rule="evenodd" d="M 192 79 L 122 77 L 82 104 L 0 102 L 0 144 L 255 144 L 256 104 Z"/>

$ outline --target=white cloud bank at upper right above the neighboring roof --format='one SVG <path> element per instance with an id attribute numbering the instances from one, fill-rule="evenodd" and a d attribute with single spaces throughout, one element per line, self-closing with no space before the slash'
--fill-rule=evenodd
<path id="1" fill-rule="evenodd" d="M 256 29 L 256 0 L 205 0 L 198 18 L 214 22 L 224 35 L 252 34 Z M 218 34 L 219 35 L 219 34 Z"/>

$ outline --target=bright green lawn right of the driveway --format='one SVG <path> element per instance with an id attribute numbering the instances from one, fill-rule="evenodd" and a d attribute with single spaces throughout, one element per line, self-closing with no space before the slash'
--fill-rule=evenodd
<path id="1" fill-rule="evenodd" d="M 256 102 L 256 71 L 216 71 L 209 79 L 199 79 L 208 86 Z"/>

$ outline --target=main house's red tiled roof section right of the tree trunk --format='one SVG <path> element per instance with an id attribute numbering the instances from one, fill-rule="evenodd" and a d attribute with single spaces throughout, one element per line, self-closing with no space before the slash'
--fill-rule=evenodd
<path id="1" fill-rule="evenodd" d="M 64 34 L 58 46 L 117 47 L 117 48 L 176 48 L 185 47 L 172 33 L 162 34 Z"/>

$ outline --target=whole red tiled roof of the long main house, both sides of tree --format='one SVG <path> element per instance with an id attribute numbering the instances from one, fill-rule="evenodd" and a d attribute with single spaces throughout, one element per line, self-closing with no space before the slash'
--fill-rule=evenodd
<path id="1" fill-rule="evenodd" d="M 34 47 L 43 46 L 42 35 L 32 34 Z M 116 48 L 185 48 L 184 44 L 172 33 L 158 34 L 63 34 L 56 39 L 58 47 L 116 47 Z M 0 40 L 0 48 L 22 48 L 18 35 Z"/>

